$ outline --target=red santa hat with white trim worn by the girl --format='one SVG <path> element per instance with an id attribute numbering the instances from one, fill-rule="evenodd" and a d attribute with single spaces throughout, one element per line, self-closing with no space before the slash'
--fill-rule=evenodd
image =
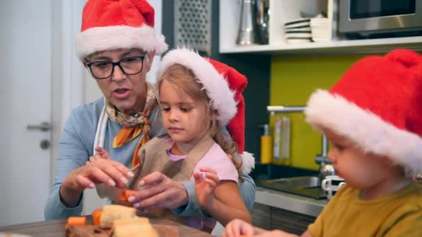
<path id="1" fill-rule="evenodd" d="M 211 106 L 218 112 L 220 126 L 227 126 L 230 136 L 237 143 L 239 155 L 242 156 L 242 172 L 250 173 L 255 166 L 255 158 L 244 151 L 245 146 L 245 102 L 242 96 L 248 80 L 233 67 L 203 58 L 189 49 L 169 51 L 160 62 L 157 71 L 158 81 L 164 71 L 171 65 L 181 64 L 191 69 L 196 79 L 201 82 L 211 99 Z"/>

